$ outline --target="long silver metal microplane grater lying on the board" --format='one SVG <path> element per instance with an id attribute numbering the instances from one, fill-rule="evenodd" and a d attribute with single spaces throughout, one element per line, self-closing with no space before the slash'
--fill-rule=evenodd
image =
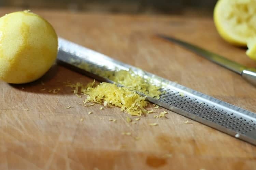
<path id="1" fill-rule="evenodd" d="M 84 70 L 83 64 L 96 69 L 129 70 L 150 78 L 155 85 L 162 85 L 160 99 L 146 96 L 152 103 L 170 111 L 208 125 L 236 138 L 256 145 L 256 114 L 231 105 L 175 82 L 163 79 L 139 68 L 124 64 L 96 51 L 87 49 L 68 40 L 59 38 L 58 63 L 67 65 L 99 81 L 111 80 L 100 77 L 93 70 Z M 138 92 L 141 94 L 140 92 Z M 145 96 L 141 94 L 142 96 Z"/>

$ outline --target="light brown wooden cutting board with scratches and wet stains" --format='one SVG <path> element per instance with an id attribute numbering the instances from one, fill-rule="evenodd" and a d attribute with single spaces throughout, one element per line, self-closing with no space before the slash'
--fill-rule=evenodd
<path id="1" fill-rule="evenodd" d="M 11 11 L 15 10 L 1 9 L 0 14 Z M 233 47 L 218 36 L 212 18 L 34 12 L 51 22 L 63 38 L 256 112 L 256 88 L 240 75 L 154 36 L 155 33 L 175 35 L 255 67 L 256 62 L 246 57 L 246 49 Z M 165 109 L 154 111 L 167 111 L 167 119 L 155 119 L 152 114 L 136 121 L 137 124 L 127 123 L 127 114 L 119 108 L 101 111 L 100 105 L 78 105 L 83 99 L 72 95 L 71 89 L 63 85 L 67 80 L 92 81 L 55 65 L 33 83 L 0 82 L 0 169 L 248 170 L 256 167 L 256 147 L 249 143 L 192 120 L 186 124 L 187 118 Z M 47 90 L 41 91 L 43 88 Z M 47 92 L 57 88 L 61 89 L 58 94 Z M 66 106 L 72 108 L 65 109 Z M 89 111 L 93 114 L 88 115 Z M 117 122 L 109 121 L 110 118 Z M 148 125 L 155 122 L 159 125 Z M 122 132 L 130 132 L 131 136 Z"/>

